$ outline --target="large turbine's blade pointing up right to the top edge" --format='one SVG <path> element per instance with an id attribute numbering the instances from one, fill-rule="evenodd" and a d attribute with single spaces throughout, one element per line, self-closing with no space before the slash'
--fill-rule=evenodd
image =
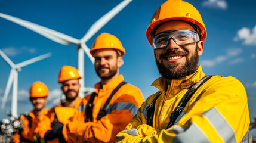
<path id="1" fill-rule="evenodd" d="M 101 29 L 109 20 L 111 20 L 116 14 L 119 13 L 124 7 L 126 7 L 132 0 L 124 0 L 120 4 L 116 5 L 112 10 L 110 10 L 108 13 L 103 15 L 100 19 L 98 19 L 90 29 L 87 31 L 87 33 L 84 35 L 84 37 L 81 39 L 81 43 L 87 42 L 95 33 L 98 32 L 98 30 Z"/>

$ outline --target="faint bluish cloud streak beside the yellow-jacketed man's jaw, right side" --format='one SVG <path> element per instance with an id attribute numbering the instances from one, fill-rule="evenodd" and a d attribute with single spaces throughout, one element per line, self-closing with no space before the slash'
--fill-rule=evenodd
<path id="1" fill-rule="evenodd" d="M 236 57 L 237 55 L 239 55 L 243 50 L 241 48 L 233 48 L 233 49 L 227 49 L 227 54 L 226 55 L 221 55 L 218 56 L 212 60 L 202 60 L 200 61 L 200 63 L 202 64 L 202 66 L 206 66 L 206 67 L 213 67 L 216 64 L 222 63 L 223 61 L 227 61 L 232 57 Z M 235 64 L 235 63 L 240 63 L 242 62 L 242 59 L 235 59 L 233 61 L 230 61 L 229 64 Z"/>

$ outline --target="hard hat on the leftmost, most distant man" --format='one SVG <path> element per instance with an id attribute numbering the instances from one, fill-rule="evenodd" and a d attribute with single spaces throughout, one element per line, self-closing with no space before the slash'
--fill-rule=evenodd
<path id="1" fill-rule="evenodd" d="M 48 95 L 48 88 L 42 82 L 34 82 L 30 87 L 30 97 L 46 97 Z"/>

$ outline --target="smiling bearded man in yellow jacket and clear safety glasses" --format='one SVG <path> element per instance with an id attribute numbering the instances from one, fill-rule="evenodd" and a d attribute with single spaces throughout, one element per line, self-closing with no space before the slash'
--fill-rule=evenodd
<path id="1" fill-rule="evenodd" d="M 193 5 L 168 0 L 146 36 L 162 77 L 116 142 L 248 142 L 247 95 L 235 77 L 205 76 L 199 56 L 206 28 Z"/>

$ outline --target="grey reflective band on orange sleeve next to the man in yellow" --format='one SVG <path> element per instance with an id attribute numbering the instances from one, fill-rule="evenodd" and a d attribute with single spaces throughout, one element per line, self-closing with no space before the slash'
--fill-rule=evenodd
<path id="1" fill-rule="evenodd" d="M 133 115 L 137 114 L 138 107 L 132 103 L 118 102 L 109 106 L 107 114 L 110 114 L 113 110 L 129 110 Z"/>

